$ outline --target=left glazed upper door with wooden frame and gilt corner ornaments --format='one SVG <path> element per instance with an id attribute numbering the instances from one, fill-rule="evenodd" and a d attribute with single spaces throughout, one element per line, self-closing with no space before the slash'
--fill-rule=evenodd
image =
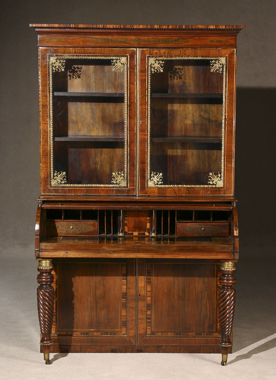
<path id="1" fill-rule="evenodd" d="M 40 48 L 40 74 L 42 194 L 134 194 L 135 49 Z"/>

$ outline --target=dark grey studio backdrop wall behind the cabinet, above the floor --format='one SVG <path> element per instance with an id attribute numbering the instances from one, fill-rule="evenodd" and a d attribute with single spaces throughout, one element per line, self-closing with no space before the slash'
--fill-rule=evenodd
<path id="1" fill-rule="evenodd" d="M 234 24 L 238 35 L 236 197 L 241 248 L 271 241 L 275 193 L 274 0 L 4 1 L 1 9 L 1 242 L 33 255 L 39 189 L 37 35 L 29 23 Z M 256 240 L 255 240 L 256 241 Z M 242 252 L 242 249 L 241 249 Z"/>

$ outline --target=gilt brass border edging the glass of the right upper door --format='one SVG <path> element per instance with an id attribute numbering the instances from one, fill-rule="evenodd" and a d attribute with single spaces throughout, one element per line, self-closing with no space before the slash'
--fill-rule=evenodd
<path id="1" fill-rule="evenodd" d="M 215 184 L 209 184 L 209 185 L 164 185 L 164 184 L 155 184 L 154 187 L 193 187 L 193 188 L 214 188 L 214 187 L 223 187 L 224 183 L 224 126 L 225 126 L 225 86 L 226 86 L 226 57 L 152 57 L 150 55 L 147 55 L 147 64 L 148 64 L 148 159 L 147 159 L 147 178 L 148 178 L 148 187 L 152 187 L 151 183 L 151 67 L 152 67 L 152 59 L 158 59 L 158 60 L 165 60 L 165 59 L 205 59 L 210 60 L 210 65 L 212 62 L 215 62 L 213 66 L 211 66 L 211 71 L 215 72 L 221 68 L 223 69 L 223 95 L 222 95 L 222 133 L 221 133 L 221 140 L 222 140 L 222 146 L 221 146 L 221 175 L 220 175 L 220 182 L 219 186 L 216 186 Z M 220 64 L 222 67 L 220 67 Z M 215 69 L 218 66 L 217 69 Z M 213 69 L 212 69 L 213 68 Z M 153 71 L 157 72 L 157 71 Z M 163 72 L 163 67 L 162 67 Z M 221 72 L 221 71 L 219 71 Z M 209 182 L 208 182 L 209 183 Z M 222 183 L 222 185 L 221 185 Z"/>

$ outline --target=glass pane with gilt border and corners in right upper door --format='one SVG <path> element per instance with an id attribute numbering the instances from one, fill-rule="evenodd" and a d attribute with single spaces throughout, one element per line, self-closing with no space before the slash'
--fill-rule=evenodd
<path id="1" fill-rule="evenodd" d="M 147 187 L 223 187 L 226 58 L 147 59 Z"/>

